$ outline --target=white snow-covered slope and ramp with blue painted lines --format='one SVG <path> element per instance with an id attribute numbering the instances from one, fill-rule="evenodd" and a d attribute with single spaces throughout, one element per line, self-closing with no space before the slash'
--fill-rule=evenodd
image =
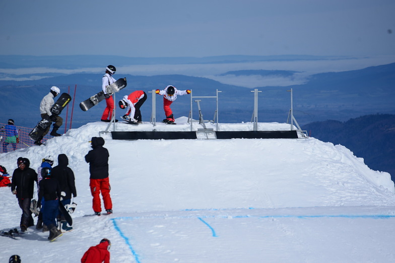
<path id="1" fill-rule="evenodd" d="M 189 131 L 185 121 L 157 123 L 155 129 Z M 46 146 L 0 154 L 11 174 L 19 156 L 36 169 L 46 155 L 67 154 L 78 193 L 72 232 L 51 243 L 34 228 L 21 240 L 0 237 L 0 261 L 18 253 L 22 262 L 58 262 L 59 256 L 78 262 L 104 237 L 112 241 L 111 260 L 117 262 L 395 259 L 390 175 L 369 169 L 341 145 L 314 138 L 121 141 L 105 134 L 114 213 L 92 216 L 84 156 L 91 137 L 106 127 L 89 123 Z M 150 123 L 117 124 L 117 130 L 152 129 Z M 251 123 L 220 124 L 222 131 L 251 129 Z M 259 130 L 287 129 L 259 123 Z M 15 196 L 9 188 L 0 194 L 0 228 L 18 227 Z"/>

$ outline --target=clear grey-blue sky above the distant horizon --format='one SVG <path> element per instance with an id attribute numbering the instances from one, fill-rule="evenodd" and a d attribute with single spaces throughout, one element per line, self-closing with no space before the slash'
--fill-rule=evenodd
<path id="1" fill-rule="evenodd" d="M 394 11 L 393 0 L 2 1 L 0 55 L 394 55 Z"/>

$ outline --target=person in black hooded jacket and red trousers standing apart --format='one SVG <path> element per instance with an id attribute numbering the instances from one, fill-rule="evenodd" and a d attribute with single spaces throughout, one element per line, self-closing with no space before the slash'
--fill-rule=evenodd
<path id="1" fill-rule="evenodd" d="M 112 214 L 112 202 L 110 197 L 110 182 L 108 179 L 108 157 L 109 153 L 103 147 L 104 139 L 101 137 L 92 137 L 92 150 L 85 155 L 86 162 L 89 163 L 89 172 L 91 193 L 93 196 L 93 211 L 95 215 L 100 216 L 101 201 L 100 193 L 103 197 L 104 208 L 107 215 Z"/>

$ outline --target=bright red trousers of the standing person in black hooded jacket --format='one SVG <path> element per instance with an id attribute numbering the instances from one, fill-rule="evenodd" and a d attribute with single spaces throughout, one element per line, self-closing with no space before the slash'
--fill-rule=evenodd
<path id="1" fill-rule="evenodd" d="M 91 194 L 93 196 L 93 211 L 101 212 L 100 192 L 103 197 L 104 209 L 112 209 L 110 197 L 111 187 L 108 177 L 104 179 L 90 179 L 89 186 L 91 187 Z"/>

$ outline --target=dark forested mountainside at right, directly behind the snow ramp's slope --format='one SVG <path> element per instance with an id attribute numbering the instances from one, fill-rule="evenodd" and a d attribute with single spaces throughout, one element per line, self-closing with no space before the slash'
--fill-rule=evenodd
<path id="1" fill-rule="evenodd" d="M 364 158 L 369 168 L 389 172 L 395 182 L 395 115 L 366 115 L 346 122 L 313 122 L 302 129 L 321 141 L 347 147 L 357 157 Z"/>

